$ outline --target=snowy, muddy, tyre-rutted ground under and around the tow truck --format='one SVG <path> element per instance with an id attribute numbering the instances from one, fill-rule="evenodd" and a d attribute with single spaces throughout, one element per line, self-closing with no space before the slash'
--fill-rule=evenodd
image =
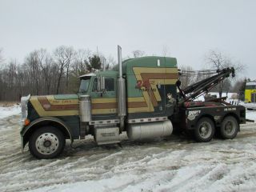
<path id="1" fill-rule="evenodd" d="M 233 140 L 197 143 L 171 135 L 120 146 L 92 138 L 59 158 L 20 150 L 19 116 L 0 118 L 0 191 L 256 191 L 256 123 Z M 256 111 L 247 111 L 255 118 Z"/>

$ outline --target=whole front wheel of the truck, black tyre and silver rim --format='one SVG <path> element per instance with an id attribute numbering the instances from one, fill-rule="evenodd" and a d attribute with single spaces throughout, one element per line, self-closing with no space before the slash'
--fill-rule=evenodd
<path id="1" fill-rule="evenodd" d="M 56 158 L 66 145 L 64 135 L 54 126 L 42 126 L 29 140 L 30 153 L 35 158 Z"/>

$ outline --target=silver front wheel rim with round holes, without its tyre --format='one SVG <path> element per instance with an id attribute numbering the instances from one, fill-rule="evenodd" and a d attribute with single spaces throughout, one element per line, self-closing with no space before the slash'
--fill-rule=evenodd
<path id="1" fill-rule="evenodd" d="M 40 154 L 53 154 L 58 150 L 58 137 L 53 133 L 43 133 L 35 141 L 35 148 Z"/>

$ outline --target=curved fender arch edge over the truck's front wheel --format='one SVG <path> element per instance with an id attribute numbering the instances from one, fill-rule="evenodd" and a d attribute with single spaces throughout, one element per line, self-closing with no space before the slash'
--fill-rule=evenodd
<path id="1" fill-rule="evenodd" d="M 43 122 L 55 122 L 55 123 L 58 123 L 60 126 L 62 126 L 66 132 L 69 134 L 70 136 L 70 141 L 71 143 L 74 142 L 74 138 L 73 138 L 73 135 L 72 135 L 72 131 L 70 129 L 70 126 L 66 125 L 65 122 L 63 122 L 61 119 L 59 118 L 53 118 L 53 117 L 46 117 L 46 118 L 38 118 L 36 120 L 34 120 L 33 122 L 30 123 L 29 126 L 26 126 L 26 127 L 23 127 L 20 134 L 21 134 L 21 142 L 22 142 L 22 152 L 23 152 L 23 148 L 24 146 L 26 145 L 26 141 L 24 143 L 24 137 L 26 135 L 26 133 L 28 133 L 28 131 L 30 129 L 33 129 L 34 126 L 37 126 L 38 124 L 41 124 Z M 43 124 L 42 124 L 43 125 Z"/>

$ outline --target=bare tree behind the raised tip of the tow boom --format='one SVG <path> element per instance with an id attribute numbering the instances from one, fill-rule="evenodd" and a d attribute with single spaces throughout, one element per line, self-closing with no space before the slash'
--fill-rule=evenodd
<path id="1" fill-rule="evenodd" d="M 245 69 L 244 65 L 232 61 L 231 58 L 228 58 L 218 50 L 210 50 L 209 54 L 206 55 L 206 62 L 214 70 L 222 70 L 226 67 L 234 67 L 236 72 L 242 72 Z M 230 79 L 227 78 L 219 83 L 218 94 L 220 98 L 222 97 L 223 90 L 229 91 L 230 84 Z"/>

